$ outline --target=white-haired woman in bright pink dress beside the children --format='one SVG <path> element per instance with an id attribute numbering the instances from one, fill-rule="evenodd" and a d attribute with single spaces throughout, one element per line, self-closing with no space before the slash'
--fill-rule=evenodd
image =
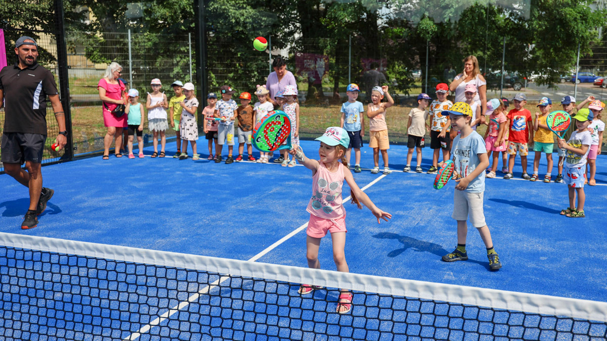
<path id="1" fill-rule="evenodd" d="M 116 157 L 122 157 L 120 154 L 120 146 L 122 144 L 122 130 L 126 124 L 127 115 L 116 117 L 112 110 L 114 110 L 120 104 L 126 104 L 126 95 L 124 93 L 124 84 L 118 80 L 122 67 L 117 62 L 112 62 L 107 66 L 106 73 L 103 78 L 99 80 L 97 84 L 97 90 L 99 91 L 99 98 L 102 101 L 101 107 L 103 108 L 103 123 L 107 127 L 106 136 L 103 138 L 103 160 L 109 158 L 110 145 L 114 136 L 116 136 L 115 143 L 115 155 Z"/>

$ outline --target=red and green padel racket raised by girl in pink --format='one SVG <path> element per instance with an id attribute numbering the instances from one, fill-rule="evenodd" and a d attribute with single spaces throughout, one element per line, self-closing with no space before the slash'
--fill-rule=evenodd
<path id="1" fill-rule="evenodd" d="M 254 127 L 251 143 L 257 150 L 266 153 L 278 149 L 291 149 L 289 116 L 281 110 L 269 112 Z"/>

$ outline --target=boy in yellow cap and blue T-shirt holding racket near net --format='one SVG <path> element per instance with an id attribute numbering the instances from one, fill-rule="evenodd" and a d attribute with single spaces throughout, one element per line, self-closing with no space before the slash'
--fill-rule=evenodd
<path id="1" fill-rule="evenodd" d="M 461 132 L 453 139 L 451 155 L 455 163 L 457 175 L 455 192 L 453 194 L 453 214 L 451 217 L 457 220 L 457 248 L 450 254 L 443 256 L 444 262 L 455 262 L 456 260 L 467 260 L 466 234 L 468 225 L 466 220 L 478 229 L 487 248 L 489 258 L 489 269 L 494 271 L 501 268 L 500 257 L 493 249 L 493 241 L 489 227 L 485 222 L 483 212 L 483 192 L 485 191 L 484 170 L 489 166 L 489 157 L 481 135 L 472 130 L 472 109 L 467 103 L 458 102 L 453 104 L 451 110 L 441 112 L 449 115 L 453 129 Z"/>

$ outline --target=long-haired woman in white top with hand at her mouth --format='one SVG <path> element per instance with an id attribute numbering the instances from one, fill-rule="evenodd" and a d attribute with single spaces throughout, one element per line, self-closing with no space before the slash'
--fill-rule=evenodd
<path id="1" fill-rule="evenodd" d="M 487 111 L 487 81 L 478 68 L 478 59 L 475 56 L 464 58 L 464 71 L 453 78 L 449 84 L 449 90 L 455 92 L 455 102 L 465 102 L 466 86 L 474 84 L 478 91 L 474 100 L 481 106 L 481 123 L 484 123 L 485 112 Z"/>

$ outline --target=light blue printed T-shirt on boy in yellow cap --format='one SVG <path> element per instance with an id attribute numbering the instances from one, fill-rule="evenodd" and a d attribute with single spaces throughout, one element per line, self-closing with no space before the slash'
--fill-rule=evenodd
<path id="1" fill-rule="evenodd" d="M 478 154 L 487 154 L 487 149 L 485 148 L 485 141 L 477 132 L 472 131 L 466 138 L 461 138 L 461 135 L 457 135 L 453 139 L 451 155 L 453 155 L 452 160 L 455 163 L 455 171 L 459 174 L 459 177 L 467 177 L 481 163 Z M 470 181 L 464 191 L 469 193 L 484 192 L 485 172 L 480 172 L 476 178 Z"/>

